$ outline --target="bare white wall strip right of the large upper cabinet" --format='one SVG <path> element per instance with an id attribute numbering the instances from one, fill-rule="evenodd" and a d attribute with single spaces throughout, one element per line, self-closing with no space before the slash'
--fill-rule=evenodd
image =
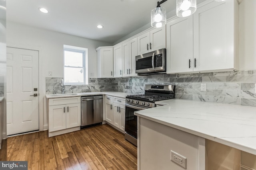
<path id="1" fill-rule="evenodd" d="M 256 0 L 239 5 L 240 70 L 256 70 Z"/>

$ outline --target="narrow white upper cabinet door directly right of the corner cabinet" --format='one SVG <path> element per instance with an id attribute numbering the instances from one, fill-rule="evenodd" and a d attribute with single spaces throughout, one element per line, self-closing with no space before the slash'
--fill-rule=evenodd
<path id="1" fill-rule="evenodd" d="M 114 47 L 114 77 L 122 77 L 122 45 Z"/>

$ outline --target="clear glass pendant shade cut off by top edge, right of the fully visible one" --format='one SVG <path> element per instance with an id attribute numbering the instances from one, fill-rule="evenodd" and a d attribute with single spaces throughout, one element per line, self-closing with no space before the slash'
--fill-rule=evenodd
<path id="1" fill-rule="evenodd" d="M 196 12 L 196 0 L 176 0 L 176 14 L 178 17 L 186 17 Z"/>

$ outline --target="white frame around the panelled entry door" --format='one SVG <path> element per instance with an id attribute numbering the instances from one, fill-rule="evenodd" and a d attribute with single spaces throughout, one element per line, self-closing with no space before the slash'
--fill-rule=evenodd
<path id="1" fill-rule="evenodd" d="M 24 46 L 24 45 L 10 45 L 7 44 L 6 47 L 11 47 L 11 48 L 17 48 L 17 49 L 26 49 L 26 50 L 34 50 L 34 51 L 38 51 L 38 106 L 39 106 L 39 131 L 44 131 L 44 92 L 42 89 L 42 83 L 45 83 L 42 81 L 42 66 L 39 63 L 42 63 L 42 57 L 41 57 L 41 53 L 42 53 L 42 48 L 39 47 L 29 47 L 29 46 Z M 41 94 L 41 95 L 40 95 Z M 6 112 L 7 114 L 7 112 Z M 6 128 L 7 131 L 7 128 Z M 6 132 L 7 134 L 7 132 Z"/>

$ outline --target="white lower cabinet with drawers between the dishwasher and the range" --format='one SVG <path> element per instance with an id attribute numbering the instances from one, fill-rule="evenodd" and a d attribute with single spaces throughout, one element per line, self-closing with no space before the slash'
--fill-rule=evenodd
<path id="1" fill-rule="evenodd" d="M 105 96 L 105 121 L 124 131 L 125 98 Z"/>

